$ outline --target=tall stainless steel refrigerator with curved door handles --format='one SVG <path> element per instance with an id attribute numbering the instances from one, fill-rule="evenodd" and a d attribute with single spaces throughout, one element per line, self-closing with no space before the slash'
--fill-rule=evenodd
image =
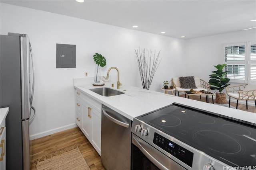
<path id="1" fill-rule="evenodd" d="M 30 169 L 29 125 L 35 116 L 34 59 L 26 34 L 0 35 L 0 107 L 6 117 L 6 168 Z"/>

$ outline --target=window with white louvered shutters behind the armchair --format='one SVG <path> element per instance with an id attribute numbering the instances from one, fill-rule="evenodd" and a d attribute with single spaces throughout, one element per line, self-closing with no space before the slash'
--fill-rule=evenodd
<path id="1" fill-rule="evenodd" d="M 256 42 L 224 45 L 230 82 L 256 83 Z"/>

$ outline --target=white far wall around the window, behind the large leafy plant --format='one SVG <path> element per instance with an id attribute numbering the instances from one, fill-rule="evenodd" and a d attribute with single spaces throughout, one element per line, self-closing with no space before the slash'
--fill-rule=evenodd
<path id="1" fill-rule="evenodd" d="M 231 32 L 186 41 L 186 73 L 209 81 L 209 75 L 224 63 L 223 45 L 245 41 L 256 41 L 256 30 Z"/>

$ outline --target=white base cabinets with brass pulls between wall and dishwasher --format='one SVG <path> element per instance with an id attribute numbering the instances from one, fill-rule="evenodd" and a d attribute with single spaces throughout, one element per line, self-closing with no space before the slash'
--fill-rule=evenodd
<path id="1" fill-rule="evenodd" d="M 76 124 L 100 154 L 101 103 L 76 90 Z"/>

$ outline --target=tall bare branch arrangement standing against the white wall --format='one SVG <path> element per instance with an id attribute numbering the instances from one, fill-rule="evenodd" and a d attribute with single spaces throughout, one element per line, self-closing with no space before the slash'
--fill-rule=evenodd
<path id="1" fill-rule="evenodd" d="M 142 86 L 144 89 L 149 90 L 154 74 L 156 73 L 156 69 L 158 68 L 162 60 L 160 59 L 160 61 L 158 62 L 160 51 L 156 56 L 156 50 L 155 50 L 154 57 L 152 58 L 151 50 L 148 50 L 147 57 L 146 57 L 145 49 L 142 50 L 142 53 L 140 52 L 140 48 L 139 50 L 138 49 L 134 49 L 134 50 L 136 53 L 137 62 L 139 66 L 140 79 L 142 82 Z"/>

